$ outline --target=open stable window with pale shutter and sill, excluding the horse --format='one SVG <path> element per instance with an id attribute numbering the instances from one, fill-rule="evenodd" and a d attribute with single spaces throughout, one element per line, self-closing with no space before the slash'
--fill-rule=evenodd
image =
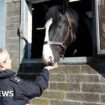
<path id="1" fill-rule="evenodd" d="M 42 0 L 43 2 L 41 0 L 39 2 L 37 0 L 27 1 L 21 0 L 20 33 L 23 38 L 20 38 L 20 58 L 21 61 L 25 59 L 34 59 L 35 61 L 36 58 L 40 59 L 42 57 L 42 45 L 45 33 L 44 30 L 39 30 L 39 28 L 44 27 L 46 7 L 60 5 L 62 2 L 61 0 Z M 99 36 L 102 29 L 98 26 L 98 24 L 102 25 L 102 23 L 98 23 L 98 20 L 101 19 L 98 19 L 100 17 L 100 14 L 98 14 L 98 7 L 101 5 L 100 2 L 104 2 L 104 0 L 79 0 L 69 3 L 69 6 L 78 12 L 81 27 L 78 29 L 79 34 L 77 36 L 76 48 L 68 47 L 65 58 L 63 61 L 61 59 L 61 62 L 87 62 L 96 54 L 96 49 L 100 52 L 101 46 L 105 45 L 104 42 L 103 45 L 99 42 L 102 39 Z M 75 49 L 78 52 L 73 55 L 70 51 L 74 51 Z"/>

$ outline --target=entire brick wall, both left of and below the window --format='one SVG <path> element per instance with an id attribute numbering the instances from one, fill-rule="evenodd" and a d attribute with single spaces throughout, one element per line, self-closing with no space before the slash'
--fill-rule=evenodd
<path id="1" fill-rule="evenodd" d="M 13 69 L 22 78 L 33 79 L 43 65 L 19 65 L 19 20 L 19 0 L 7 0 L 6 47 Z M 60 65 L 50 71 L 49 87 L 41 97 L 32 99 L 31 105 L 105 105 L 104 61 L 105 58 L 91 64 Z"/>

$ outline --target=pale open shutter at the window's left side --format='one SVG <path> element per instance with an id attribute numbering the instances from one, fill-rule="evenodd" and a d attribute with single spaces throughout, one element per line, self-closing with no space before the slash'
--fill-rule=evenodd
<path id="1" fill-rule="evenodd" d="M 20 63 L 23 62 L 24 57 L 30 58 L 30 43 L 32 36 L 32 10 L 31 3 L 27 4 L 26 0 L 21 0 L 20 12 Z M 28 45 L 27 45 L 28 43 Z"/>

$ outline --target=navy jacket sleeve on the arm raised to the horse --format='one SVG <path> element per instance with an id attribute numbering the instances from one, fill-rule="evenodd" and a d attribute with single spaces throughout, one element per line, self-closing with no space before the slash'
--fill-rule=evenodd
<path id="1" fill-rule="evenodd" d="M 36 77 L 35 81 L 22 81 L 19 88 L 23 95 L 28 98 L 38 97 L 42 94 L 44 89 L 48 87 L 49 72 L 43 69 L 42 72 Z"/>

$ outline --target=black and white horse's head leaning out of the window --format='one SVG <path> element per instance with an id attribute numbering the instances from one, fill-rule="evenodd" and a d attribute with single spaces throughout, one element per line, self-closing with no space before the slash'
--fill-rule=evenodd
<path id="1" fill-rule="evenodd" d="M 52 7 L 47 13 L 43 60 L 54 64 L 64 56 L 66 48 L 75 40 L 78 27 L 78 15 L 73 10 L 61 13 L 58 7 Z"/>

